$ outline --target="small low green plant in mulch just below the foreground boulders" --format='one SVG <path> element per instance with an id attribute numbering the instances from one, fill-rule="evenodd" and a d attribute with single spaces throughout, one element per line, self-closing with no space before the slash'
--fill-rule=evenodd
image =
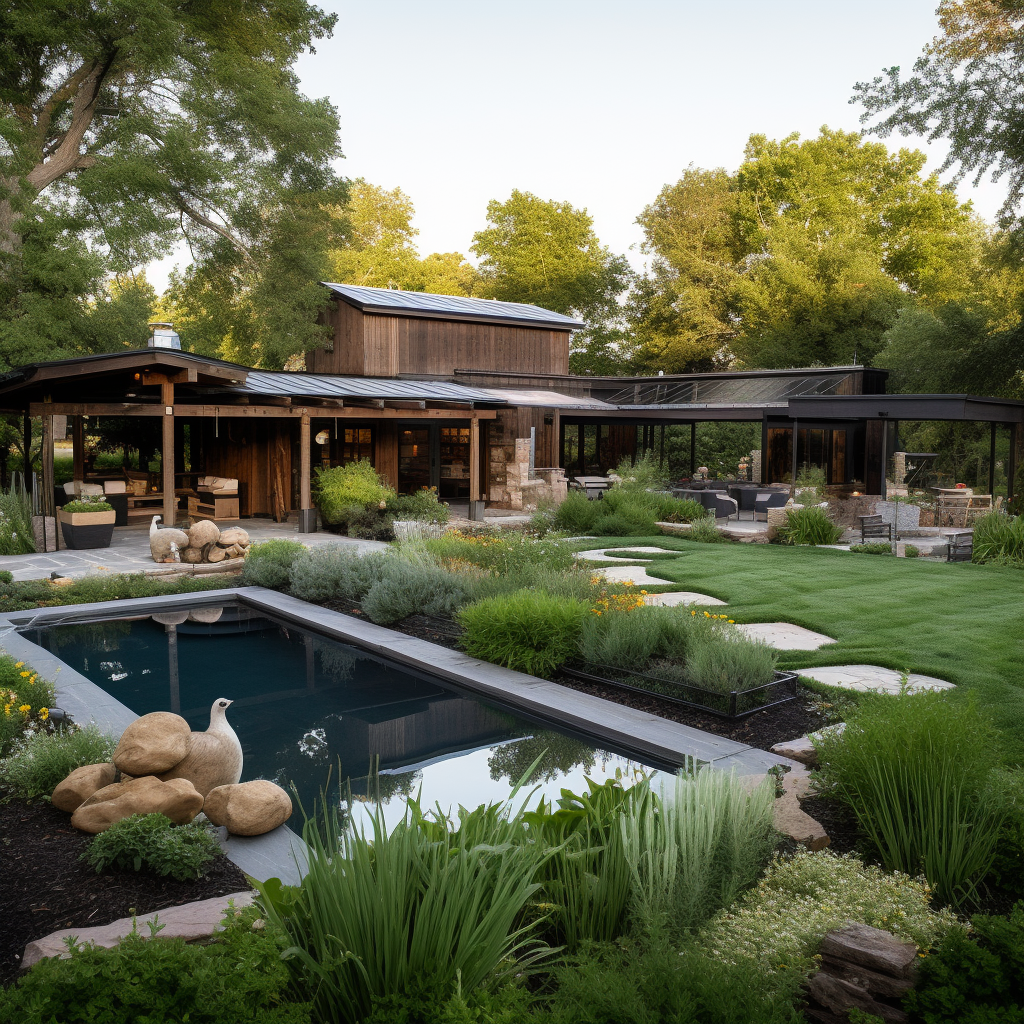
<path id="1" fill-rule="evenodd" d="M 86 847 L 84 860 L 100 871 L 152 871 L 178 882 L 202 878 L 220 855 L 205 824 L 175 825 L 163 814 L 132 814 L 115 821 Z"/>

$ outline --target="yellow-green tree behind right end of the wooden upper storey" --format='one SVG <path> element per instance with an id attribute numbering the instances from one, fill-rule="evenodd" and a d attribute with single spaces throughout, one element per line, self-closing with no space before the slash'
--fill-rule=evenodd
<path id="1" fill-rule="evenodd" d="M 480 294 L 585 322 L 573 339 L 577 373 L 626 362 L 618 300 L 629 264 L 601 245 L 586 210 L 513 190 L 504 203 L 487 204 L 487 226 L 473 236 L 472 252 L 480 258 Z"/>

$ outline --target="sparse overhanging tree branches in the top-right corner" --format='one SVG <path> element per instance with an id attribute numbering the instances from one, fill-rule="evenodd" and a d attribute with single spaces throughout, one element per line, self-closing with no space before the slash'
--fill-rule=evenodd
<path id="1" fill-rule="evenodd" d="M 868 131 L 945 139 L 940 172 L 975 183 L 1007 179 L 1000 219 L 1021 227 L 1024 199 L 1024 5 L 1020 0 L 941 0 L 941 33 L 909 75 L 898 67 L 854 87 Z"/>

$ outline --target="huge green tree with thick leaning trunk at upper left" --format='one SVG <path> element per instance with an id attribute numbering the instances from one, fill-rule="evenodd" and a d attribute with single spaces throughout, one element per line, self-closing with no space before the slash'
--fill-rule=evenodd
<path id="1" fill-rule="evenodd" d="M 25 346 L 36 357 L 88 350 L 87 332 L 39 315 L 46 298 L 87 314 L 104 275 L 182 234 L 188 280 L 232 291 L 231 329 L 252 315 L 240 299 L 265 316 L 272 337 L 251 350 L 273 365 L 315 341 L 324 297 L 303 273 L 323 267 L 327 239 L 306 232 L 341 198 L 338 123 L 330 103 L 301 95 L 293 65 L 334 22 L 306 0 L 0 9 L 0 359 Z"/>

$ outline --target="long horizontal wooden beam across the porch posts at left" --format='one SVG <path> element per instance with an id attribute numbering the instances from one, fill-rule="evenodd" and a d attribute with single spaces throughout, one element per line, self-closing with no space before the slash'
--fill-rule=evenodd
<path id="1" fill-rule="evenodd" d="M 383 399 L 382 399 L 383 400 Z M 164 407 L 157 404 L 139 404 L 137 402 L 33 402 L 29 407 L 32 416 L 42 416 L 47 410 L 52 416 L 163 416 Z M 411 415 L 412 414 L 414 415 Z M 336 408 L 333 406 L 233 406 L 225 402 L 222 406 L 178 404 L 174 407 L 175 416 L 209 417 L 219 415 L 222 418 L 238 417 L 239 419 L 268 419 L 285 417 L 298 419 L 303 413 L 322 419 L 339 420 L 493 420 L 498 415 L 493 409 L 359 409 L 354 406 Z"/>

